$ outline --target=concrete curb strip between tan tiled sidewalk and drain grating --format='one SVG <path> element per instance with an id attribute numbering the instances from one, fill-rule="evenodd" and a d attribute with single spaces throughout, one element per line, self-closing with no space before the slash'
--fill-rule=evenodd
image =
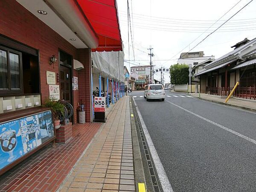
<path id="1" fill-rule="evenodd" d="M 130 105 L 130 113 L 134 114 L 132 104 L 131 104 L 131 97 L 129 98 L 129 105 Z M 145 173 L 142 164 L 142 158 L 140 153 L 140 145 L 137 135 L 137 129 L 135 125 L 134 116 L 131 116 L 131 134 L 132 134 L 132 145 L 133 145 L 133 154 L 134 154 L 134 172 L 135 172 L 135 189 L 139 192 L 138 183 L 145 183 L 145 187 L 147 189 L 147 185 L 145 182 Z"/>

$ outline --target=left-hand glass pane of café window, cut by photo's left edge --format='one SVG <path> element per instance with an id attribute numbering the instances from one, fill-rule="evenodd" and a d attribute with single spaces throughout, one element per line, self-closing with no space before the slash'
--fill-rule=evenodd
<path id="1" fill-rule="evenodd" d="M 8 89 L 7 52 L 0 49 L 0 90 Z"/>

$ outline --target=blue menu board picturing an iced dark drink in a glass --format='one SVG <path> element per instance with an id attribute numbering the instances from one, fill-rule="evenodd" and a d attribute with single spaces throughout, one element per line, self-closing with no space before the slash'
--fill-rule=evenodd
<path id="1" fill-rule="evenodd" d="M 50 110 L 0 124 L 0 170 L 54 137 Z"/>

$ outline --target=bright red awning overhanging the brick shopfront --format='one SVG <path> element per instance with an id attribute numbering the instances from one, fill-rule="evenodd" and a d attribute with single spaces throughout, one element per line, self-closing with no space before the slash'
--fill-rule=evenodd
<path id="1" fill-rule="evenodd" d="M 122 51 L 116 0 L 76 0 L 99 37 L 92 51 Z"/>

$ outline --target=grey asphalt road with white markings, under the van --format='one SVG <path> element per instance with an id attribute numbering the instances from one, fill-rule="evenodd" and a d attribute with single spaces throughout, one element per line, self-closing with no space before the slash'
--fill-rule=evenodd
<path id="1" fill-rule="evenodd" d="M 256 113 L 184 93 L 131 95 L 175 192 L 256 191 Z"/>

